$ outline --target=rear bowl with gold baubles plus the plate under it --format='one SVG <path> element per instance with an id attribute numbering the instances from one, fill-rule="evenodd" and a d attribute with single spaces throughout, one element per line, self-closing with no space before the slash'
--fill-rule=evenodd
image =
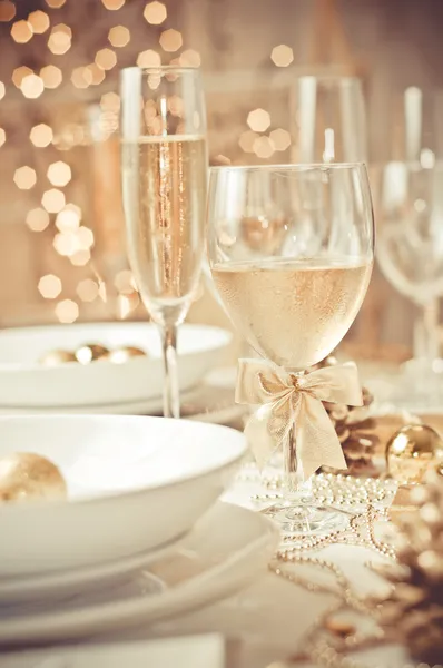
<path id="1" fill-rule="evenodd" d="M 203 379 L 220 362 L 230 340 L 229 332 L 217 327 L 180 327 L 178 373 L 185 413 L 199 412 Z M 90 362 L 88 348 L 108 354 Z M 81 363 L 75 357 L 79 351 Z M 91 323 L 0 332 L 3 414 L 159 414 L 163 379 L 160 337 L 152 324 Z M 204 394 L 205 413 L 210 412 L 208 399 L 216 407 L 220 403 L 225 409 L 233 406 L 233 392 L 227 396 L 223 390 L 213 390 L 208 395 L 205 389 Z"/>

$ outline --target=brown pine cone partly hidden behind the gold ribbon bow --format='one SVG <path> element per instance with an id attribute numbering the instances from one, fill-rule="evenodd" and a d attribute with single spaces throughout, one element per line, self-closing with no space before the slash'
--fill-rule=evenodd
<path id="1" fill-rule="evenodd" d="M 337 364 L 334 356 L 329 355 L 315 369 Z M 375 433 L 376 421 L 370 416 L 368 406 L 374 401 L 372 394 L 363 387 L 363 406 L 346 406 L 323 402 L 329 415 L 348 466 L 347 473 L 353 475 L 375 475 L 377 473 L 373 458 L 378 445 Z"/>

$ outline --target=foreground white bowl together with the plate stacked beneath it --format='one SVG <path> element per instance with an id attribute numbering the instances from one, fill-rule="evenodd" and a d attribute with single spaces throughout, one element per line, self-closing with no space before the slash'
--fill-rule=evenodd
<path id="1" fill-rule="evenodd" d="M 57 466 L 67 498 L 23 500 L 46 484 L 11 485 L 23 453 Z M 200 422 L 0 418 L 0 646 L 146 628 L 257 577 L 277 530 L 218 501 L 245 453 L 242 433 Z"/>

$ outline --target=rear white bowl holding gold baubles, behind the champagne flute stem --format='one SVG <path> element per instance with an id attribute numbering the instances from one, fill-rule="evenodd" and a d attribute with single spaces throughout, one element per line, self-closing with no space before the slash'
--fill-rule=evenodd
<path id="1" fill-rule="evenodd" d="M 217 365 L 232 334 L 206 325 L 183 325 L 178 335 L 181 391 L 196 386 Z M 38 361 L 53 350 L 100 343 L 136 346 L 149 356 L 125 364 L 99 361 L 48 367 Z M 0 332 L 0 406 L 57 407 L 141 402 L 161 396 L 163 360 L 158 330 L 147 323 L 89 323 Z"/>

